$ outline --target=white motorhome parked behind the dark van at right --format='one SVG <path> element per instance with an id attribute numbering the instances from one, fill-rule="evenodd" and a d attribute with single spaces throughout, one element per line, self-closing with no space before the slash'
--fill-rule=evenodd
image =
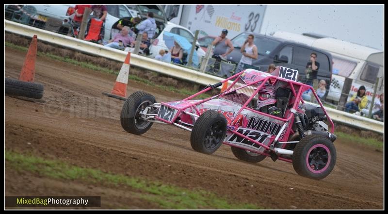
<path id="1" fill-rule="evenodd" d="M 345 42 L 331 37 L 275 32 L 274 37 L 303 43 L 314 48 L 327 50 L 333 57 L 333 75 L 330 83 L 330 91 L 326 100 L 338 103 L 345 77 L 353 79 L 349 97 L 357 93 L 358 88 L 364 85 L 368 96 L 368 106 L 372 101 L 372 94 L 376 78 L 379 78 L 376 98 L 379 99 L 384 92 L 384 64 L 383 51 L 361 46 L 351 42 Z"/>

